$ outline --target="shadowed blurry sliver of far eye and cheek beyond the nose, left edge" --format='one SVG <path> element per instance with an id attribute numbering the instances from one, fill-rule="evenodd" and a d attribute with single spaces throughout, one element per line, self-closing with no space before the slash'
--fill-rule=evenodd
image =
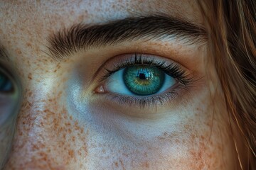
<path id="1" fill-rule="evenodd" d="M 0 169 L 4 166 L 11 148 L 20 98 L 17 81 L 7 65 L 0 65 Z"/>

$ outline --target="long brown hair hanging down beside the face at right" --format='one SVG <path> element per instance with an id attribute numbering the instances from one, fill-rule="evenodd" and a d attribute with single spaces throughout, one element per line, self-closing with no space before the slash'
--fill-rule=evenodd
<path id="1" fill-rule="evenodd" d="M 214 0 L 199 4 L 208 21 L 213 61 L 228 113 L 250 150 L 248 169 L 256 169 L 256 1 Z"/>

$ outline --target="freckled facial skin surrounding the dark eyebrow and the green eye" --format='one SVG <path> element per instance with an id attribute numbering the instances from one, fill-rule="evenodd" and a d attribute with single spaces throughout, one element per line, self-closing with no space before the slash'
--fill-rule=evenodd
<path id="1" fill-rule="evenodd" d="M 213 89 L 218 86 L 218 78 L 213 65 L 206 70 L 203 62 L 209 55 L 206 45 L 184 50 L 169 42 L 124 42 L 118 47 L 78 52 L 60 63 L 47 55 L 47 38 L 60 28 L 159 10 L 203 24 L 197 4 L 186 0 L 0 3 L 0 16 L 4 16 L 0 42 L 8 50 L 11 66 L 18 70 L 23 89 L 5 169 L 239 168 L 234 163 L 238 159 L 222 94 L 210 89 L 209 84 Z M 213 75 L 157 110 L 119 106 L 93 94 L 96 86 L 88 80 L 100 63 L 119 51 L 128 52 L 122 49 L 134 52 L 136 47 L 149 53 L 159 48 L 165 55 L 176 48 L 179 52 L 172 50 L 171 60 L 201 77 L 206 72 Z M 182 57 L 177 57 L 180 53 Z M 102 57 L 95 57 L 98 55 Z"/>

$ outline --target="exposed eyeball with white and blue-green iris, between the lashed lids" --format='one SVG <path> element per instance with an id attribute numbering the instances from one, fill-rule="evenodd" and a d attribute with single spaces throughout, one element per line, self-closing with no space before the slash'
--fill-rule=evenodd
<path id="1" fill-rule="evenodd" d="M 176 84 L 176 79 L 154 66 L 134 65 L 112 74 L 106 89 L 127 96 L 149 96 L 166 91 Z"/>

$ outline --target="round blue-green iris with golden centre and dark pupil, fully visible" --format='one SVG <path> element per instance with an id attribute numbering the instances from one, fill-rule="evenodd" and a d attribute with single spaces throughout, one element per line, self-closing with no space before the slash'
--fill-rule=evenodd
<path id="1" fill-rule="evenodd" d="M 164 84 L 165 73 L 156 67 L 136 65 L 124 69 L 124 84 L 133 94 L 156 94 Z"/>

